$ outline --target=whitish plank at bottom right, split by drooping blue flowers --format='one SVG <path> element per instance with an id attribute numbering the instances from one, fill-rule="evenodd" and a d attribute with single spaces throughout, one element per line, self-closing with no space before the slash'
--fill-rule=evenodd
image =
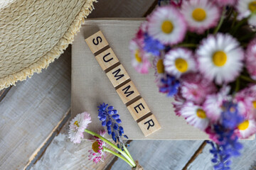
<path id="1" fill-rule="evenodd" d="M 241 156 L 233 158 L 233 163 L 231 169 L 234 170 L 248 170 L 256 169 L 253 166 L 256 165 L 256 140 L 247 140 L 242 141 L 244 148 L 241 151 Z M 209 150 L 211 149 L 210 145 L 206 145 L 203 149 L 202 154 L 199 154 L 195 161 L 193 161 L 189 166 L 188 170 L 212 170 L 213 164 L 210 160 L 213 158 L 213 155 L 210 154 Z"/>

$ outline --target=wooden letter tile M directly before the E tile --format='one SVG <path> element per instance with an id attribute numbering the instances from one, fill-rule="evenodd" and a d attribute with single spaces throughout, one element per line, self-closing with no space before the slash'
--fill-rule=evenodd
<path id="1" fill-rule="evenodd" d="M 122 99 L 122 102 L 126 104 L 129 101 L 132 101 L 132 99 L 139 96 L 139 91 L 136 89 L 132 81 L 129 81 L 129 83 L 124 84 L 124 86 L 119 87 L 117 89 L 117 94 Z"/>

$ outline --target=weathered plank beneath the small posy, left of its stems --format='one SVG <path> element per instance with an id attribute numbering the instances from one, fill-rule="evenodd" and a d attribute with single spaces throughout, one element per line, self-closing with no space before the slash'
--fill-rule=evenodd
<path id="1" fill-rule="evenodd" d="M 110 164 L 113 156 L 106 153 L 105 162 L 95 164 L 88 160 L 88 150 L 92 142 L 82 141 L 79 145 L 68 139 L 68 123 L 60 131 L 60 134 L 50 143 L 46 152 L 31 170 L 102 170 Z"/>

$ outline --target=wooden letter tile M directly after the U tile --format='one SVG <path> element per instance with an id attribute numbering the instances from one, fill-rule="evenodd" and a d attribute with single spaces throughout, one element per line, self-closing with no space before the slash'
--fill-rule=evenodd
<path id="1" fill-rule="evenodd" d="M 127 81 L 127 79 L 129 79 L 129 75 L 125 71 L 122 64 L 110 70 L 110 72 L 107 72 L 107 77 L 110 79 L 114 87 L 122 84 L 124 81 Z"/>

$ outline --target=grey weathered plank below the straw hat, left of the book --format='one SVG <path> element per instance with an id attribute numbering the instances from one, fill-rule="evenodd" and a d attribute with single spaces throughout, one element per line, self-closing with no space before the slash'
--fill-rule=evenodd
<path id="1" fill-rule="evenodd" d="M 23 169 L 70 107 L 70 47 L 0 103 L 0 169 Z"/>

